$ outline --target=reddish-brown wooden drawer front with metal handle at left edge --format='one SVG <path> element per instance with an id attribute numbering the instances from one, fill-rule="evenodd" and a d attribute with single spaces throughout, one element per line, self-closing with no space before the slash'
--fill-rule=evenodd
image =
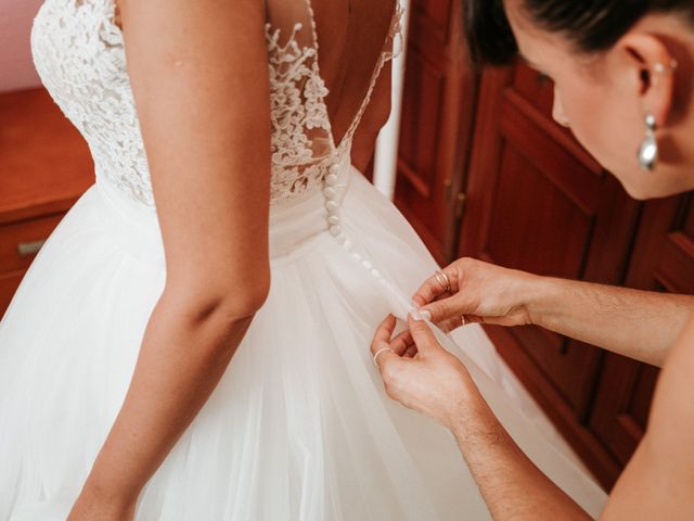
<path id="1" fill-rule="evenodd" d="M 65 214 L 0 226 L 0 276 L 26 269 Z"/>

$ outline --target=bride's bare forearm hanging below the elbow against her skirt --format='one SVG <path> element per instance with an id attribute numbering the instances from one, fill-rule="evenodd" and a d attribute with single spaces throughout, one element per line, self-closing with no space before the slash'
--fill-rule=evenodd
<path id="1" fill-rule="evenodd" d="M 253 305 L 195 308 L 182 300 L 165 292 L 150 319 L 125 402 L 82 492 L 101 505 L 134 504 L 211 394 L 252 321 Z"/>

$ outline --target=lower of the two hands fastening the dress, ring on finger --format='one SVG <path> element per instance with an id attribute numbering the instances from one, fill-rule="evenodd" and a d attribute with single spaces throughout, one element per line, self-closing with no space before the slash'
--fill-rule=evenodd
<path id="1" fill-rule="evenodd" d="M 463 364 L 436 341 L 424 320 L 409 316 L 409 331 L 394 338 L 396 323 L 395 317 L 386 318 L 371 343 L 372 355 L 381 352 L 377 366 L 386 393 L 453 429 L 461 405 L 478 394 L 475 383 Z"/>

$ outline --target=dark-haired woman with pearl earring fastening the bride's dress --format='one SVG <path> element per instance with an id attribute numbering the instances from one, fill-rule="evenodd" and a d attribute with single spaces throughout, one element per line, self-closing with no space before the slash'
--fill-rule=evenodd
<path id="1" fill-rule="evenodd" d="M 694 189 L 692 0 L 470 0 L 478 64 L 520 54 L 555 82 L 554 118 L 637 199 Z M 603 519 L 694 519 L 694 298 L 538 277 L 460 259 L 424 282 L 410 332 L 377 330 L 391 397 L 458 439 L 494 519 L 586 513 L 518 449 L 439 328 L 534 323 L 663 366 L 647 432 Z M 416 356 L 415 356 L 416 354 Z"/>

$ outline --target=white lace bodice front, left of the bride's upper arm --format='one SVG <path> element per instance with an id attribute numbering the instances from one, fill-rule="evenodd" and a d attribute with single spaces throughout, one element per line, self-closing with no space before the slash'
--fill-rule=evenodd
<path id="1" fill-rule="evenodd" d="M 98 178 L 153 206 L 150 169 L 113 0 L 47 0 L 34 21 L 36 68 L 82 134 Z"/>

